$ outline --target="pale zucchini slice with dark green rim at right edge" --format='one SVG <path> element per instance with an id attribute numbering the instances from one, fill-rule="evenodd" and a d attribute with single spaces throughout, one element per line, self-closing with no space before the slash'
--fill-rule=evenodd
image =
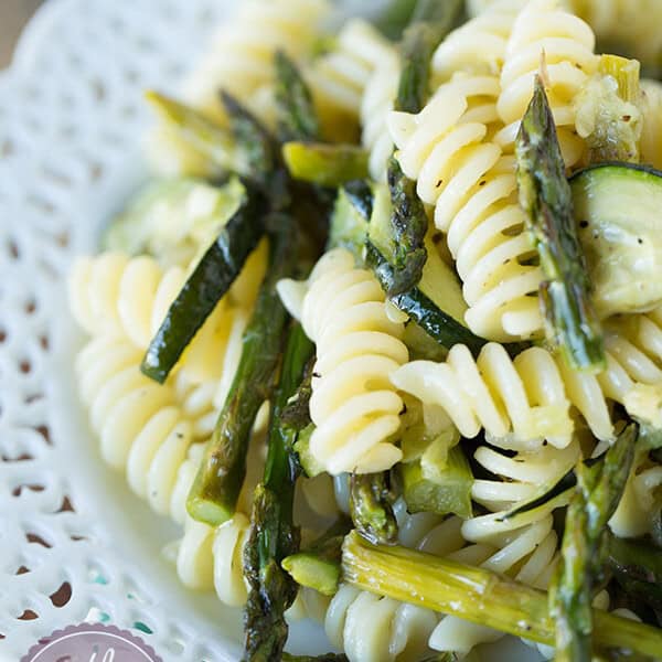
<path id="1" fill-rule="evenodd" d="M 597 313 L 644 312 L 662 303 L 662 172 L 600 163 L 578 172 L 570 185 Z"/>

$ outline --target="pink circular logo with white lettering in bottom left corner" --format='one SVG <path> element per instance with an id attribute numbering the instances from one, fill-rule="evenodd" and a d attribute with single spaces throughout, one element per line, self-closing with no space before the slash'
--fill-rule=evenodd
<path id="1" fill-rule="evenodd" d="M 163 662 L 150 645 L 128 630 L 81 623 L 39 640 L 21 662 Z"/>

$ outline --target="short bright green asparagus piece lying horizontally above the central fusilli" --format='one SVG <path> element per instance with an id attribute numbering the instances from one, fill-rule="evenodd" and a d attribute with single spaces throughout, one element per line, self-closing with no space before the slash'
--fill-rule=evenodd
<path id="1" fill-rule="evenodd" d="M 282 159 L 292 178 L 321 186 L 367 177 L 367 152 L 353 145 L 286 142 Z"/>

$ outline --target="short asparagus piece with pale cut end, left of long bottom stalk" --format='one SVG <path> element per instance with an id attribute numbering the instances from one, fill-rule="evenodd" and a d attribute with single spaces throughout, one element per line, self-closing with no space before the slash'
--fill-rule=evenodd
<path id="1" fill-rule="evenodd" d="M 282 567 L 297 584 L 324 596 L 335 595 L 340 581 L 340 558 L 351 521 L 341 516 L 312 545 L 282 560 Z"/>

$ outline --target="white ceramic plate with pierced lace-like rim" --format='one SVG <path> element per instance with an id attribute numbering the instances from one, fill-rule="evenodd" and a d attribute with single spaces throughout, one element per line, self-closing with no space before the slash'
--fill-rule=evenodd
<path id="1" fill-rule="evenodd" d="M 100 461 L 63 286 L 145 177 L 142 90 L 174 92 L 231 6 L 51 0 L 0 75 L 0 660 L 86 619 L 138 626 L 166 661 L 239 658 L 239 612 L 179 584 L 160 554 L 175 532 Z M 330 647 L 301 623 L 289 648 Z M 515 649 L 532 659 L 482 658 Z"/>

